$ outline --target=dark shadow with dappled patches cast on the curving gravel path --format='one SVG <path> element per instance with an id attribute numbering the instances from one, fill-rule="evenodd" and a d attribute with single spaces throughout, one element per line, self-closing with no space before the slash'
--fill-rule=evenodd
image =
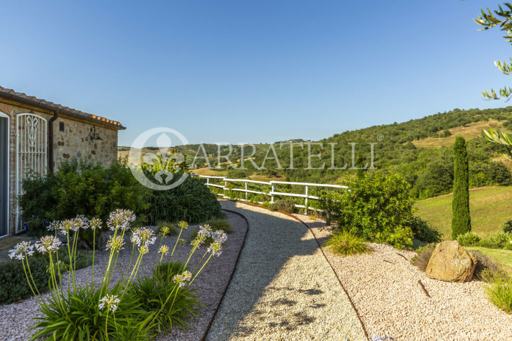
<path id="1" fill-rule="evenodd" d="M 305 233 L 309 233 L 308 229 L 298 221 L 236 207 L 232 201 L 221 204 L 224 209 L 243 214 L 249 222 L 249 230 L 236 272 L 207 340 L 261 335 L 261 329 L 266 327 L 290 331 L 314 323 L 316 317 L 310 313 L 326 306 L 316 302 L 315 296 L 324 291 L 318 289 L 315 278 L 311 278 L 306 287 L 269 286 L 292 257 L 312 255 L 317 250 L 314 239 L 302 240 Z M 316 224 L 317 227 L 325 225 Z M 272 294 L 280 298 L 260 301 L 265 290 L 281 291 Z"/>

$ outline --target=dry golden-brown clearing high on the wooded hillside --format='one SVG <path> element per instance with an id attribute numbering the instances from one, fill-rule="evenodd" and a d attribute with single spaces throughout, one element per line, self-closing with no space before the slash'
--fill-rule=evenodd
<path id="1" fill-rule="evenodd" d="M 462 136 L 466 140 L 472 139 L 475 136 L 480 135 L 484 129 L 489 129 L 489 125 L 492 126 L 493 129 L 500 129 L 500 127 L 502 126 L 502 122 L 490 119 L 488 121 L 470 123 L 467 124 L 466 126 L 457 126 L 455 128 L 450 129 L 450 133 L 452 133 L 452 136 L 437 138 L 429 137 L 426 139 L 413 141 L 413 143 L 416 147 L 426 148 L 451 146 L 455 142 L 455 136 Z"/>

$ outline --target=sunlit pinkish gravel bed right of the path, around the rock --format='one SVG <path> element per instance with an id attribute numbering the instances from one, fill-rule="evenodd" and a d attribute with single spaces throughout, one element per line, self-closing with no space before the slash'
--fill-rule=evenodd
<path id="1" fill-rule="evenodd" d="M 296 215 L 321 244 L 331 235 L 321 220 Z M 368 334 L 396 340 L 506 340 L 512 337 L 512 316 L 489 301 L 482 282 L 431 280 L 403 259 L 415 252 L 387 244 L 369 244 L 371 254 L 340 257 L 325 250 L 361 316 Z M 389 261 L 393 264 L 385 262 Z M 418 280 L 432 296 L 425 295 Z"/>

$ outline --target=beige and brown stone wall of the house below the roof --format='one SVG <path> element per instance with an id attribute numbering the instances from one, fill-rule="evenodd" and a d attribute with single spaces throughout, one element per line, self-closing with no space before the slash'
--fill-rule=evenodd
<path id="1" fill-rule="evenodd" d="M 13 132 L 17 131 L 16 115 L 21 113 L 31 113 L 45 118 L 48 122 L 53 117 L 53 113 L 30 108 L 30 106 L 17 104 L 8 100 L 0 101 L 0 112 L 10 117 L 9 124 L 9 234 L 14 235 L 15 224 L 15 205 L 16 197 L 16 140 L 13 138 Z M 59 122 L 64 123 L 64 131 L 59 130 Z M 102 140 L 91 140 L 96 127 L 96 134 Z M 63 160 L 70 160 L 75 157 L 78 160 L 92 158 L 108 166 L 117 159 L 117 129 L 115 127 L 101 123 L 81 120 L 74 117 L 59 115 L 53 122 L 54 135 L 54 170 Z M 49 156 L 47 150 L 47 157 Z M 48 165 L 50 160 L 48 160 Z"/>

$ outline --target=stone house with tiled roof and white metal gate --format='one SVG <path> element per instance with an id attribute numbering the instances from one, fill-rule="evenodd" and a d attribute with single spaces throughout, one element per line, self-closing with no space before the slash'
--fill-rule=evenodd
<path id="1" fill-rule="evenodd" d="M 62 160 L 117 159 L 121 123 L 0 87 L 0 238 L 24 230 L 16 196 L 30 173 L 46 174 Z"/>

